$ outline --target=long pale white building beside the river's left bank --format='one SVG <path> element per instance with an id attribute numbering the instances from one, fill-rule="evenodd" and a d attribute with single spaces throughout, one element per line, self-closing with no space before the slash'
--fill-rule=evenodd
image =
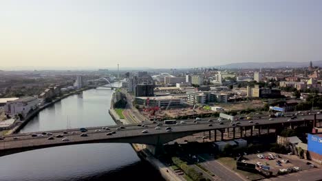
<path id="1" fill-rule="evenodd" d="M 36 97 L 21 97 L 14 101 L 8 101 L 5 106 L 5 113 L 8 115 L 22 114 L 23 117 L 37 108 L 38 99 Z"/>

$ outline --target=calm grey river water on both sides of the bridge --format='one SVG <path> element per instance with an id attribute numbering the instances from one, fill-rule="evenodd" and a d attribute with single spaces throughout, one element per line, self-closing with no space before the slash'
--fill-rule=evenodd
<path id="1" fill-rule="evenodd" d="M 72 95 L 39 112 L 21 132 L 115 125 L 114 90 Z M 0 157 L 0 180 L 163 180 L 129 144 L 97 143 L 36 149 Z"/>

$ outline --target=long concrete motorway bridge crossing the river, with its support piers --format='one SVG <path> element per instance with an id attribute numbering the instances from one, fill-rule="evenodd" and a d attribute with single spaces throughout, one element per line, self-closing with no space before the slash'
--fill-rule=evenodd
<path id="1" fill-rule="evenodd" d="M 53 130 L 52 140 L 48 138 L 51 136 L 36 136 L 32 137 L 32 134 L 42 134 L 42 132 L 32 132 L 24 134 L 13 134 L 10 136 L 4 136 L 3 140 L 0 140 L 0 156 L 8 154 L 14 154 L 19 152 L 25 152 L 32 149 L 41 149 L 46 147 L 56 147 L 62 145 L 76 145 L 85 143 L 140 143 L 147 145 L 162 145 L 173 141 L 177 138 L 189 136 L 199 132 L 209 132 L 209 138 L 216 141 L 216 135 L 211 138 L 211 132 L 221 133 L 221 138 L 224 137 L 224 132 L 233 132 L 233 138 L 235 138 L 235 132 L 239 130 L 240 137 L 246 136 L 246 130 L 250 132 L 250 136 L 253 136 L 253 130 L 257 130 L 261 134 L 261 130 L 291 127 L 299 125 L 316 125 L 316 122 L 322 120 L 322 115 L 305 115 L 297 117 L 297 119 L 290 120 L 290 117 L 280 117 L 273 120 L 257 119 L 257 120 L 244 120 L 239 121 L 240 124 L 230 125 L 230 121 L 217 121 L 209 122 L 208 119 L 204 121 L 193 120 L 184 121 L 177 125 L 161 125 L 160 130 L 155 130 L 158 123 L 144 123 L 146 127 L 139 125 L 122 125 L 123 129 L 118 129 L 119 125 L 109 126 L 109 130 L 100 128 L 87 128 L 87 136 L 81 136 L 82 132 L 79 129 L 71 130 Z M 179 121 L 178 121 L 179 122 Z M 211 125 L 210 125 L 211 124 Z M 166 128 L 171 127 L 171 132 L 167 132 Z M 143 130 L 147 130 L 147 133 L 142 133 Z M 243 134 L 243 131 L 245 134 Z M 65 132 L 65 134 L 63 133 Z M 115 134 L 107 135 L 108 132 L 115 132 Z M 68 138 L 69 141 L 63 141 L 63 138 L 56 138 L 56 135 L 63 134 L 63 138 Z"/>

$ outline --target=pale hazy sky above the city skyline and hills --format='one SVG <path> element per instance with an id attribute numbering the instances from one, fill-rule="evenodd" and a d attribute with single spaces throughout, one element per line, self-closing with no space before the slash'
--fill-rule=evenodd
<path id="1" fill-rule="evenodd" d="M 322 1 L 0 0 L 0 67 L 322 60 Z"/>

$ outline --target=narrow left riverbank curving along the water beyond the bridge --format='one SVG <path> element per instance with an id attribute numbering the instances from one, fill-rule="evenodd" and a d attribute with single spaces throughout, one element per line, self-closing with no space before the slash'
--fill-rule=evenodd
<path id="1" fill-rule="evenodd" d="M 9 135 L 9 134 L 17 134 L 21 129 L 23 129 L 25 127 L 25 125 L 28 124 L 28 122 L 34 118 L 39 112 L 41 112 L 41 110 L 44 110 L 45 108 L 48 108 L 52 105 L 54 105 L 56 102 L 58 101 L 61 101 L 62 99 L 65 99 L 71 95 L 75 95 L 75 94 L 78 94 L 78 93 L 81 93 L 85 90 L 89 90 L 89 89 L 92 89 L 92 88 L 82 88 L 82 89 L 79 89 L 79 90 L 75 90 L 74 92 L 72 93 L 67 93 L 65 95 L 62 95 L 61 97 L 56 97 L 56 99 L 52 100 L 51 102 L 47 103 L 47 104 L 44 104 L 43 106 L 40 106 L 39 108 L 37 108 L 36 110 L 32 111 L 30 114 L 27 115 L 27 117 L 25 117 L 25 119 L 23 119 L 17 126 L 15 126 L 14 128 L 12 128 L 11 130 L 8 130 L 6 132 L 6 135 Z"/>

